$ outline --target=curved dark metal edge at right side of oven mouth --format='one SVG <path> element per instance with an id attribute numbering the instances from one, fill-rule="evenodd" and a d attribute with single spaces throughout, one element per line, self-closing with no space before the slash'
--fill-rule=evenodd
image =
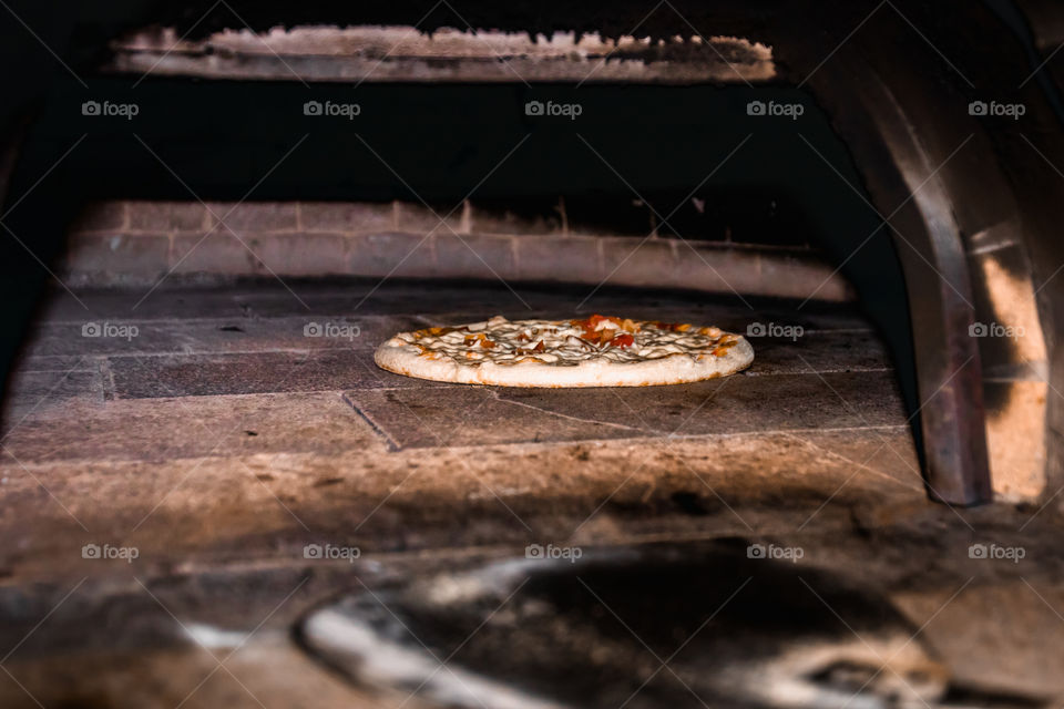
<path id="1" fill-rule="evenodd" d="M 842 52 L 840 52 L 841 54 Z M 961 230 L 932 155 L 893 93 L 853 52 L 810 81 L 887 217 L 909 296 L 922 433 L 932 500 L 991 502 L 982 364 L 969 337 L 972 288 Z M 863 71 L 855 71 L 857 68 Z"/>

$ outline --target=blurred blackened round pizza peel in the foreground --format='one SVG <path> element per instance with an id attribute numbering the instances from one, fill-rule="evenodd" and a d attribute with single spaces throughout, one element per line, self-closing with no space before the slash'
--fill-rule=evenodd
<path id="1" fill-rule="evenodd" d="M 950 677 L 886 597 L 728 540 L 525 558 L 365 587 L 299 638 L 402 706 L 477 709 L 1042 707 Z"/>

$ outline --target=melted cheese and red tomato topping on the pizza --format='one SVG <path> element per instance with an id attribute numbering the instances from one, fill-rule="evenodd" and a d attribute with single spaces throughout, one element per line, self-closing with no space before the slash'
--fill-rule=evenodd
<path id="1" fill-rule="evenodd" d="M 457 328 L 400 332 L 386 346 L 463 367 L 535 362 L 555 367 L 592 360 L 645 362 L 666 357 L 723 357 L 739 338 L 714 327 L 592 316 L 586 320 L 514 320 L 497 316 Z"/>

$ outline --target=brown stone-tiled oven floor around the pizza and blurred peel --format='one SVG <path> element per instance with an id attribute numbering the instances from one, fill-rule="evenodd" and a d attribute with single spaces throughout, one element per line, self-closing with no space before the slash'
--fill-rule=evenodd
<path id="1" fill-rule="evenodd" d="M 427 325 L 571 317 L 586 290 L 289 285 L 43 308 L 2 417 L 3 706 L 375 706 L 293 640 L 338 594 L 529 544 L 734 537 L 873 585 L 962 684 L 1064 691 L 1045 657 L 1064 643 L 1057 512 L 928 503 L 891 366 L 852 308 L 603 289 L 581 312 L 802 335 L 751 339 L 751 368 L 723 380 L 540 391 L 398 377 L 372 350 Z M 983 540 L 1026 558 L 973 562 Z M 1009 659 L 973 650 L 984 638 Z"/>

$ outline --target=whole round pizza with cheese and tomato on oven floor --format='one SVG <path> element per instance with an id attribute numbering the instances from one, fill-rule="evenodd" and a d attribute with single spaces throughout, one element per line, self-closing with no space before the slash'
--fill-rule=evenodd
<path id="1" fill-rule="evenodd" d="M 684 322 L 593 315 L 400 332 L 374 356 L 390 372 L 461 384 L 647 387 L 725 377 L 749 367 L 739 335 Z"/>

